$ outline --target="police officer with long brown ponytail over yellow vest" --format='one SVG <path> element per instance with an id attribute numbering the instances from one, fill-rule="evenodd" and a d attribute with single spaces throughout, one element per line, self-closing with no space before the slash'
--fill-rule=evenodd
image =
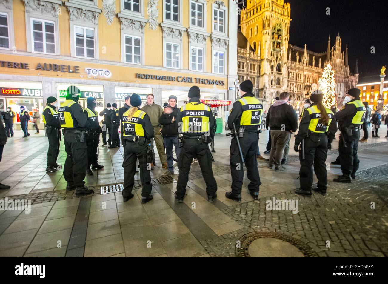
<path id="1" fill-rule="evenodd" d="M 315 175 L 318 178 L 318 186 L 314 188 L 314 191 L 326 194 L 327 136 L 329 135 L 329 126 L 335 124 L 335 119 L 334 113 L 322 104 L 322 99 L 322 94 L 311 94 L 311 105 L 303 111 L 299 131 L 295 138 L 294 150 L 299 152 L 300 161 L 300 188 L 295 189 L 295 193 L 301 195 L 311 195 L 313 165 Z M 304 149 L 300 151 L 298 147 L 302 141 L 301 147 Z"/>

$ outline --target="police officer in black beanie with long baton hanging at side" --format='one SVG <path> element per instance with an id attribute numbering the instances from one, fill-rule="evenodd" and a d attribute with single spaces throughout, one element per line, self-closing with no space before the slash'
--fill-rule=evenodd
<path id="1" fill-rule="evenodd" d="M 233 123 L 236 126 L 237 136 L 241 145 L 242 156 L 250 180 L 248 189 L 254 200 L 258 200 L 260 188 L 260 176 L 257 168 L 256 153 L 258 148 L 258 133 L 261 127 L 263 106 L 253 94 L 253 83 L 245 80 L 240 84 L 241 99 L 234 102 L 232 112 L 228 118 L 228 128 L 233 131 Z M 229 199 L 241 201 L 242 179 L 244 169 L 241 154 L 237 145 L 236 136 L 230 143 L 230 173 L 232 175 L 232 191 L 226 192 Z"/>

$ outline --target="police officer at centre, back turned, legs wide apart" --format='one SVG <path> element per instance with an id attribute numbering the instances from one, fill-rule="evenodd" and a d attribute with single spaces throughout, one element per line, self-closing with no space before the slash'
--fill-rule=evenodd
<path id="1" fill-rule="evenodd" d="M 180 203 L 183 202 L 191 162 L 196 158 L 206 183 L 208 201 L 213 202 L 217 197 L 217 183 L 211 168 L 208 143 L 210 143 L 210 137 L 214 137 L 215 118 L 211 109 L 199 100 L 201 92 L 197 86 L 190 88 L 188 97 L 189 102 L 177 113 L 177 121 L 178 125 L 182 126 L 183 137 L 178 157 L 179 177 L 175 199 Z M 179 129 L 178 132 L 180 132 Z"/>

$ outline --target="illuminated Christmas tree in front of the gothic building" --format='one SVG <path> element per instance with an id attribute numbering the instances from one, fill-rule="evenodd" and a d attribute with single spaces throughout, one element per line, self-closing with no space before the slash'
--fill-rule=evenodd
<path id="1" fill-rule="evenodd" d="M 322 77 L 319 78 L 318 88 L 323 94 L 322 104 L 330 109 L 332 106 L 337 106 L 336 102 L 336 82 L 334 79 L 334 70 L 330 64 L 327 64 L 322 72 Z"/>

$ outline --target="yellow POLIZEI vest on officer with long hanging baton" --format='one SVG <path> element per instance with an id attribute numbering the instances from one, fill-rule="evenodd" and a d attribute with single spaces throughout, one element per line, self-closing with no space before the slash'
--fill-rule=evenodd
<path id="1" fill-rule="evenodd" d="M 263 105 L 255 97 L 239 99 L 242 106 L 240 125 L 260 125 L 262 122 Z"/>

